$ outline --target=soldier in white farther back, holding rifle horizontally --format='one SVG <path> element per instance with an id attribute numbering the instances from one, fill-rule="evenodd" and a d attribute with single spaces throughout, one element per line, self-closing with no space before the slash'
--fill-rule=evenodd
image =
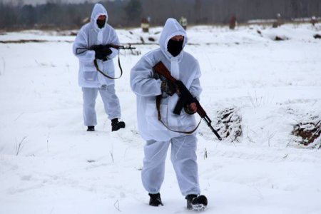
<path id="1" fill-rule="evenodd" d="M 81 27 L 73 43 L 73 54 L 79 59 L 78 83 L 83 91 L 83 120 L 88 127 L 87 131 L 95 131 L 97 124 L 95 105 L 98 91 L 108 118 L 111 119 L 111 131 L 125 128 L 125 123 L 118 121 L 118 118 L 121 118 L 121 106 L 116 96 L 115 81 L 98 73 L 93 62 L 96 59 L 104 73 L 114 76 L 112 59 L 118 55 L 118 50 L 113 48 L 105 52 L 86 50 L 93 45 L 119 45 L 116 31 L 107 24 L 107 20 L 106 9 L 101 4 L 95 4 L 90 23 Z"/>

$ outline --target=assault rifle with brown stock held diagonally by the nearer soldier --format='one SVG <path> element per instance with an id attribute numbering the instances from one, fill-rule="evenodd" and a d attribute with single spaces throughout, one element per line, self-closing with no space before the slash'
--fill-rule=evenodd
<path id="1" fill-rule="evenodd" d="M 188 88 L 186 88 L 184 83 L 182 81 L 179 81 L 179 80 L 176 80 L 175 78 L 173 78 L 173 76 L 170 75 L 170 71 L 168 71 L 168 69 L 165 67 L 165 65 L 161 61 L 158 62 L 155 66 L 153 66 L 153 70 L 156 71 L 161 76 L 167 78 L 171 83 L 173 83 L 173 86 L 175 86 L 175 88 L 176 88 L 176 93 L 178 94 L 179 99 L 178 99 L 178 102 L 176 103 L 173 113 L 179 115 L 180 111 L 182 111 L 182 108 L 184 106 L 186 106 L 190 103 L 196 103 L 197 113 L 200 116 L 200 118 L 202 118 L 205 121 L 205 123 L 208 125 L 208 127 L 210 127 L 210 130 L 213 131 L 215 136 L 218 137 L 218 139 L 220 141 L 222 141 L 222 138 L 220 137 L 218 132 L 215 131 L 215 129 L 210 124 L 210 123 L 212 123 L 212 121 L 210 121 L 210 118 L 206 114 L 205 110 L 203 109 L 202 106 L 200 106 L 200 103 L 190 93 L 190 91 L 188 91 Z"/>

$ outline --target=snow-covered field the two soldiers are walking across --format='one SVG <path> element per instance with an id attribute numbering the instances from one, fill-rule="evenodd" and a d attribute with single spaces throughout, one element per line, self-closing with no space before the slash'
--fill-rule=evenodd
<path id="1" fill-rule="evenodd" d="M 117 33 L 146 54 L 158 47 L 160 31 Z M 305 148 L 291 134 L 300 121 L 321 119 L 321 39 L 313 38 L 321 25 L 195 26 L 187 33 L 185 51 L 200 62 L 200 103 L 213 126 L 220 126 L 220 112 L 233 109 L 239 120 L 232 126 L 242 130 L 218 141 L 205 123 L 198 129 L 205 213 L 321 213 L 321 139 Z M 41 42 L 13 42 L 21 39 Z M 169 159 L 164 206 L 148 206 L 144 141 L 129 86 L 141 55 L 121 51 L 116 91 L 126 128 L 111 133 L 98 96 L 98 125 L 86 132 L 74 39 L 43 31 L 0 34 L 0 213 L 193 213 Z"/>

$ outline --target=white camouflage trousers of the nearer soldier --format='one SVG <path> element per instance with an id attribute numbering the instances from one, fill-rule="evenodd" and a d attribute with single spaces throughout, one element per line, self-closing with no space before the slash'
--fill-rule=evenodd
<path id="1" fill-rule="evenodd" d="M 170 141 L 146 142 L 141 175 L 143 186 L 148 193 L 160 192 L 164 180 L 166 154 L 171 145 L 170 160 L 173 163 L 180 192 L 183 196 L 200 194 L 196 143 L 195 135 L 179 136 Z"/>

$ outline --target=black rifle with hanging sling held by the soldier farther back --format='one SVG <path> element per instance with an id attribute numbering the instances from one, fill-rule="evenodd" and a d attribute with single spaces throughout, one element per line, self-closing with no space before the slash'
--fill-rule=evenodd
<path id="1" fill-rule="evenodd" d="M 93 45 L 89 48 L 78 48 L 76 49 L 76 54 L 83 54 L 83 52 L 85 51 L 99 51 L 101 53 L 106 53 L 106 52 L 109 52 L 110 53 L 110 49 L 113 48 L 113 49 L 123 49 L 123 50 L 134 50 L 136 49 L 135 47 L 132 47 L 131 44 L 129 44 L 129 46 L 119 46 L 119 45 L 116 45 L 116 44 L 106 44 L 106 45 Z M 79 50 L 83 50 L 82 52 L 78 52 Z M 111 53 L 110 53 L 111 54 Z M 107 60 L 107 57 L 106 58 L 103 58 L 103 61 L 106 61 Z M 117 78 L 115 77 L 112 77 L 112 76 L 108 76 L 106 73 L 103 73 L 103 71 L 101 71 L 101 69 L 99 69 L 99 66 L 98 66 L 98 63 L 97 63 L 97 60 L 95 59 L 93 61 L 93 64 L 95 65 L 97 71 L 99 73 L 101 73 L 103 76 L 106 76 L 107 78 L 111 78 L 111 79 L 118 79 L 118 78 L 121 78 L 121 76 L 123 75 L 123 68 L 121 68 L 121 59 L 119 58 L 119 54 L 118 54 L 118 66 L 119 66 L 119 69 L 121 69 L 121 75 L 118 76 Z"/>

